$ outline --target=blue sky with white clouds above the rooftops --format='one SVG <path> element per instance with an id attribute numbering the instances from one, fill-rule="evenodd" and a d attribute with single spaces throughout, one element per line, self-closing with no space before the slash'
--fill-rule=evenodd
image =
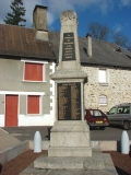
<path id="1" fill-rule="evenodd" d="M 0 0 L 0 23 L 10 9 L 12 0 Z M 26 9 L 26 27 L 33 26 L 33 10 L 36 4 L 48 8 L 49 31 L 60 32 L 60 14 L 64 10 L 74 10 L 78 15 L 78 34 L 86 36 L 91 22 L 106 24 L 114 32 L 123 33 L 131 43 L 131 0 L 23 0 Z"/>

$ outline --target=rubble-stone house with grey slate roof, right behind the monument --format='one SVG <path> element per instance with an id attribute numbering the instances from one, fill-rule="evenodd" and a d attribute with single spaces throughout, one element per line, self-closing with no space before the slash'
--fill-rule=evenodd
<path id="1" fill-rule="evenodd" d="M 58 58 L 59 33 L 50 33 Z M 118 45 L 79 37 L 81 68 L 87 73 L 85 108 L 108 112 L 114 105 L 131 103 L 131 52 Z"/>

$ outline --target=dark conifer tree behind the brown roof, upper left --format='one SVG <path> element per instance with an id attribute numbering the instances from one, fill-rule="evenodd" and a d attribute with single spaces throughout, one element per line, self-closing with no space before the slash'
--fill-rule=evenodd
<path id="1" fill-rule="evenodd" d="M 21 23 L 21 22 L 24 23 L 26 22 L 26 20 L 22 18 L 25 15 L 26 11 L 25 8 L 23 7 L 22 0 L 13 0 L 11 2 L 10 8 L 12 9 L 12 13 L 7 13 L 5 20 L 3 20 L 5 24 L 25 26 L 24 24 Z"/>

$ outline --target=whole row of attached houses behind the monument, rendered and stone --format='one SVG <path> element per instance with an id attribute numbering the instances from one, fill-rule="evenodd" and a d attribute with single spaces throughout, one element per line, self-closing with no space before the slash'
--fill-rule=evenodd
<path id="1" fill-rule="evenodd" d="M 46 7 L 36 5 L 33 14 L 33 28 L 0 24 L 0 127 L 55 121 L 50 74 L 59 65 L 60 33 L 48 31 Z M 131 103 L 131 52 L 90 35 L 79 37 L 79 47 L 85 108 Z"/>

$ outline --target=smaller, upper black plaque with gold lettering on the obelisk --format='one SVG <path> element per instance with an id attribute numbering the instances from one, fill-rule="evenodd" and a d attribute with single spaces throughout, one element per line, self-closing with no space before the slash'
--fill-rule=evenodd
<path id="1" fill-rule="evenodd" d="M 74 35 L 73 33 L 63 33 L 62 60 L 75 60 Z"/>

